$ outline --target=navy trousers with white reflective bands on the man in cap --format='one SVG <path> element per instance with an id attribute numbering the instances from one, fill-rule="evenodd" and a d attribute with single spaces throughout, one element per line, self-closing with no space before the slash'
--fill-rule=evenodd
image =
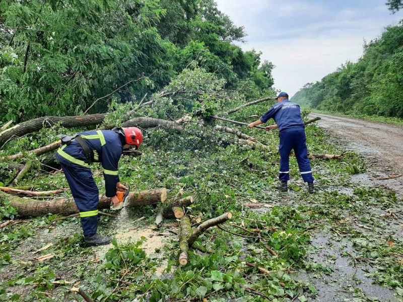
<path id="1" fill-rule="evenodd" d="M 313 182 L 311 164 L 308 159 L 304 128 L 280 132 L 280 174 L 281 181 L 290 180 L 290 153 L 294 149 L 299 170 L 304 182 Z"/>

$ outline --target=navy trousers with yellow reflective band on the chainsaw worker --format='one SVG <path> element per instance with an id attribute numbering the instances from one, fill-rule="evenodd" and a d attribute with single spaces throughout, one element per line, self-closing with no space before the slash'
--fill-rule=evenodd
<path id="1" fill-rule="evenodd" d="M 70 189 L 80 211 L 81 226 L 83 227 L 84 236 L 92 236 L 97 233 L 98 227 L 98 187 L 92 177 L 91 169 L 82 167 L 63 159 L 56 155 L 64 175 L 69 183 Z M 89 213 L 91 216 L 86 216 Z"/>

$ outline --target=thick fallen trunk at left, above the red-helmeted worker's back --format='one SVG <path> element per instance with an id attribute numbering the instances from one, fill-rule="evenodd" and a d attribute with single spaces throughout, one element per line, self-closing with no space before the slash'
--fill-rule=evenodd
<path id="1" fill-rule="evenodd" d="M 106 114 L 91 114 L 86 116 L 45 116 L 38 117 L 26 122 L 17 124 L 0 133 L 0 146 L 12 138 L 20 137 L 61 123 L 62 127 L 72 128 L 80 126 L 96 125 L 103 122 Z"/>

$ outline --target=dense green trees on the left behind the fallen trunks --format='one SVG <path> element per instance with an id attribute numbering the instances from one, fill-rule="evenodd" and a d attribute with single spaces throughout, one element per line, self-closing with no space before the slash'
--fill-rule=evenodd
<path id="1" fill-rule="evenodd" d="M 273 65 L 232 44 L 243 27 L 213 0 L 3 0 L 0 16 L 0 122 L 80 114 L 116 90 L 91 109 L 104 112 L 111 99 L 151 96 L 193 61 L 229 87 L 273 85 Z"/>

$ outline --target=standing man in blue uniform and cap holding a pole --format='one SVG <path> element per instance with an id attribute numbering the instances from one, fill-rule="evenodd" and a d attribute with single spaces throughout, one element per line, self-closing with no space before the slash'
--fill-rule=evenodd
<path id="1" fill-rule="evenodd" d="M 313 193 L 314 179 L 308 159 L 305 125 L 301 117 L 300 106 L 290 102 L 287 93 L 281 92 L 277 97 L 277 104 L 268 110 L 259 120 L 250 123 L 249 128 L 264 124 L 271 118 L 275 120 L 276 124 L 266 127 L 266 130 L 280 129 L 280 189 L 285 192 L 288 191 L 290 153 L 294 149 L 301 176 L 304 182 L 308 183 L 309 193 Z"/>

